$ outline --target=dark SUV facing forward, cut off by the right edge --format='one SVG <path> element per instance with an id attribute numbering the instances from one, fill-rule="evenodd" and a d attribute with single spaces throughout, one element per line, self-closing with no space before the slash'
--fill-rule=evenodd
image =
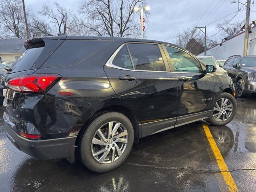
<path id="1" fill-rule="evenodd" d="M 236 95 L 256 93 L 256 56 L 233 55 L 222 66 L 236 84 Z"/>

